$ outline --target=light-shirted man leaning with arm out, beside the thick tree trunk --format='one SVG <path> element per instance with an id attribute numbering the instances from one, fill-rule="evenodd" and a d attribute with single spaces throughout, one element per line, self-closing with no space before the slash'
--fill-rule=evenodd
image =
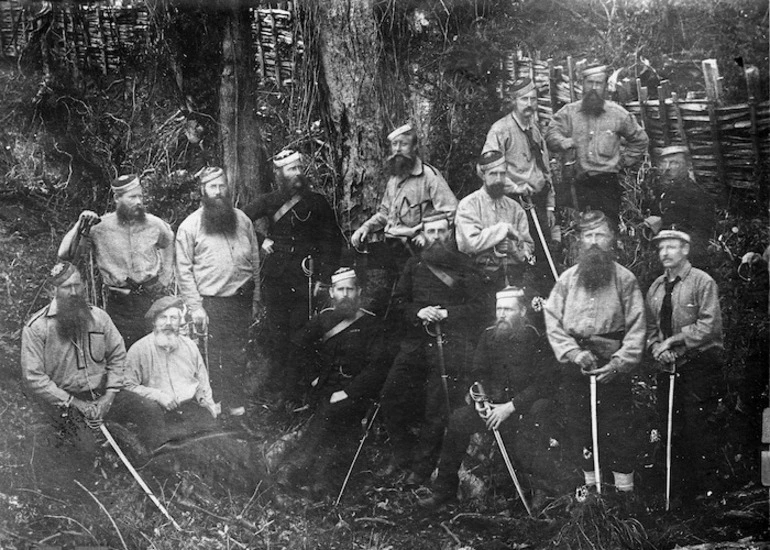
<path id="1" fill-rule="evenodd" d="M 358 249 L 362 243 L 375 239 L 383 231 L 383 242 L 372 247 L 375 265 L 386 271 L 387 291 L 398 278 L 413 251 L 425 244 L 421 233 L 423 215 L 427 210 L 452 212 L 457 209 L 457 199 L 441 173 L 424 162 L 417 154 L 417 132 L 411 124 L 404 124 L 388 134 L 390 156 L 385 172 L 388 181 L 377 213 L 361 225 L 351 236 L 350 242 Z M 385 299 L 375 302 L 387 307 Z"/>

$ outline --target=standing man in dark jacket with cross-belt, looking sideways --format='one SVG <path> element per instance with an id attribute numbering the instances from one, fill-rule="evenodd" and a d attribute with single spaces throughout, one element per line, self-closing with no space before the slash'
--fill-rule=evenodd
<path id="1" fill-rule="evenodd" d="M 296 365 L 288 361 L 289 343 L 307 322 L 318 285 L 328 281 L 339 265 L 342 248 L 334 211 L 326 197 L 311 190 L 305 168 L 305 159 L 296 151 L 276 155 L 273 171 L 278 189 L 244 209 L 254 221 L 267 218 L 267 232 L 260 237 L 272 378 L 278 378 L 283 397 L 290 401 L 297 398 L 298 373 Z M 314 279 L 312 285 L 308 285 L 309 278 Z"/>

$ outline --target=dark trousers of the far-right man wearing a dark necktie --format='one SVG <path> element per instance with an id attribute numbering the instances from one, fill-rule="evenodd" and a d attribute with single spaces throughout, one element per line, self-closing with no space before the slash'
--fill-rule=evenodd
<path id="1" fill-rule="evenodd" d="M 671 496 L 692 503 L 699 493 L 716 488 L 721 462 L 715 413 L 719 406 L 722 360 L 716 350 L 692 358 L 678 369 L 674 383 Z M 665 480 L 670 376 L 658 374 L 659 431 L 664 451 L 659 469 Z"/>

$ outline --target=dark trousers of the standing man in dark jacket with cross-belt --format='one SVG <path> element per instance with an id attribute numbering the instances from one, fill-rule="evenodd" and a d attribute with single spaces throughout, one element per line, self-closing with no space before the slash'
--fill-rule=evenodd
<path id="1" fill-rule="evenodd" d="M 288 277 L 288 276 L 287 276 Z M 295 278 L 296 279 L 296 278 Z M 269 279 L 262 286 L 268 322 L 270 355 L 273 359 L 271 383 L 288 398 L 300 397 L 304 373 L 289 362 L 291 339 L 308 321 L 307 279 L 291 277 Z"/>

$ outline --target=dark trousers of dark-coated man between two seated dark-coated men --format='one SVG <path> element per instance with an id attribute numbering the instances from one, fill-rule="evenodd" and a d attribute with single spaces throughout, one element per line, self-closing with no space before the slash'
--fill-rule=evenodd
<path id="1" fill-rule="evenodd" d="M 447 337 L 444 359 L 451 408 L 461 403 L 467 392 L 463 373 L 471 353 L 465 338 Z M 435 340 L 406 340 L 393 361 L 380 399 L 394 462 L 400 468 L 411 465 L 422 474 L 433 471 L 449 418 L 438 361 Z"/>

